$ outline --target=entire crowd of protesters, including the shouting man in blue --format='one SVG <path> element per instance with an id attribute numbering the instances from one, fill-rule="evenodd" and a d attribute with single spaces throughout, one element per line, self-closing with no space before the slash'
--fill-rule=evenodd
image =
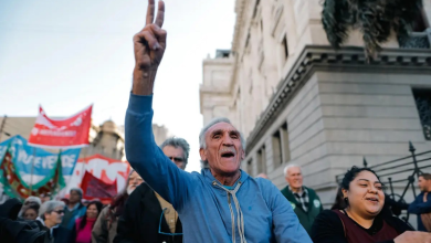
<path id="1" fill-rule="evenodd" d="M 165 3 L 159 1 L 157 8 L 156 15 L 155 0 L 148 1 L 146 25 L 134 36 L 135 68 L 125 124 L 126 155 L 134 170 L 126 188 L 109 205 L 83 201 L 80 188 L 71 189 L 69 199 L 29 197 L 22 207 L 11 199 L 0 205 L 0 240 L 431 242 L 429 173 L 420 175 L 421 193 L 406 204 L 385 194 L 375 171 L 353 167 L 343 178 L 332 210 L 324 210 L 318 194 L 303 184 L 296 165 L 285 167 L 287 186 L 282 190 L 266 175 L 253 178 L 241 170 L 245 141 L 227 118 L 217 118 L 201 129 L 199 154 L 206 167 L 200 173 L 186 172 L 189 144 L 169 138 L 157 146 L 153 134 L 153 87 L 167 40 L 161 29 Z M 395 216 L 403 209 L 418 214 L 418 231 Z"/>

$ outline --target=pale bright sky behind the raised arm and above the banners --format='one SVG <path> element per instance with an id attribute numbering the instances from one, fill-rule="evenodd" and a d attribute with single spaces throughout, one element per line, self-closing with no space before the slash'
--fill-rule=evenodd
<path id="1" fill-rule="evenodd" d="M 204 3 L 203 3 L 204 2 Z M 154 123 L 187 139 L 200 171 L 202 60 L 230 49 L 234 0 L 165 0 L 167 50 L 154 91 Z M 1 0 L 0 115 L 67 117 L 90 104 L 93 122 L 124 125 L 146 0 Z"/>

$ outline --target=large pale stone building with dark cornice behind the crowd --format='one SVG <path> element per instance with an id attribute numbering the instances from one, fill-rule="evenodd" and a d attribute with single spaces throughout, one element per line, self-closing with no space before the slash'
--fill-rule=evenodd
<path id="1" fill-rule="evenodd" d="M 224 116 L 243 131 L 242 169 L 269 175 L 297 163 L 304 183 L 326 208 L 335 176 L 353 165 L 431 149 L 431 1 L 424 25 L 409 40 L 393 35 L 372 62 L 358 30 L 340 50 L 329 46 L 319 0 L 236 0 L 231 50 L 202 63 L 203 123 Z M 397 188 L 396 188 L 397 189 Z"/>

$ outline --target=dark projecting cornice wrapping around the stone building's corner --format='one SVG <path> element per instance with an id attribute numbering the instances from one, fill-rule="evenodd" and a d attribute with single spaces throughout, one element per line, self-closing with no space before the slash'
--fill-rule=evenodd
<path id="1" fill-rule="evenodd" d="M 376 60 L 367 62 L 362 47 L 334 50 L 330 46 L 305 46 L 286 78 L 277 85 L 276 93 L 248 137 L 246 154 L 253 149 L 277 115 L 316 71 L 431 73 L 431 50 L 385 49 Z"/>

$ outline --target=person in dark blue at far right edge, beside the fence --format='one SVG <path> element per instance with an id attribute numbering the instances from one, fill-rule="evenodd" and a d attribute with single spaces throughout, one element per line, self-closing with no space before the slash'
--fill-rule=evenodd
<path id="1" fill-rule="evenodd" d="M 409 213 L 418 214 L 418 231 L 431 232 L 431 173 L 419 176 L 421 193 L 409 207 Z"/>

